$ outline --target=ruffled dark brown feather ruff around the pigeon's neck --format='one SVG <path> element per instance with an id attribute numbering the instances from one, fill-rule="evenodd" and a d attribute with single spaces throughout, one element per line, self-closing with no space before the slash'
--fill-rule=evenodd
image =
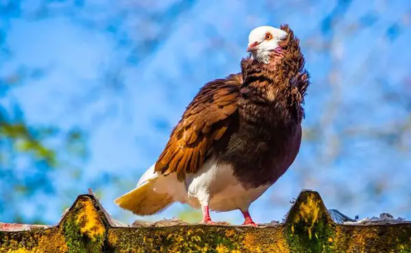
<path id="1" fill-rule="evenodd" d="M 260 97 L 256 102 L 279 104 L 295 110 L 292 115 L 301 121 L 305 116 L 301 105 L 310 84 L 309 74 L 304 69 L 305 60 L 299 39 L 288 25 L 281 25 L 280 29 L 288 35 L 271 52 L 269 63 L 264 64 L 250 57 L 242 59 L 242 91 L 259 90 Z"/>

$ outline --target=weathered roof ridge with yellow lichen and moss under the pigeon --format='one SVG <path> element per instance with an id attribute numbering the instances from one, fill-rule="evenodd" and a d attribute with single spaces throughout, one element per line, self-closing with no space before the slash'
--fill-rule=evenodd
<path id="1" fill-rule="evenodd" d="M 409 222 L 336 224 L 315 191 L 301 192 L 284 224 L 258 228 L 118 226 L 93 195 L 79 195 L 58 226 L 0 225 L 0 252 L 411 252 Z"/>

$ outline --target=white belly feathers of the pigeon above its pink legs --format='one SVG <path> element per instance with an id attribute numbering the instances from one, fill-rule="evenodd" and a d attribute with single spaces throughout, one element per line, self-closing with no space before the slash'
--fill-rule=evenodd
<path id="1" fill-rule="evenodd" d="M 253 168 L 250 168 L 253 169 Z M 188 204 L 195 208 L 208 206 L 216 211 L 248 210 L 269 184 L 245 189 L 234 177 L 232 165 L 212 158 L 195 174 L 186 174 Z"/>

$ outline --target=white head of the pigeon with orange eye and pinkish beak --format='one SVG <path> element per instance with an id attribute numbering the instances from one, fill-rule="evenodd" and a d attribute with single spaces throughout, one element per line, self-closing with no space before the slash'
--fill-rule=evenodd
<path id="1" fill-rule="evenodd" d="M 267 64 L 270 60 L 271 51 L 279 47 L 278 43 L 286 37 L 287 33 L 282 29 L 268 25 L 257 27 L 249 34 L 247 52 L 251 52 L 253 60 Z"/>

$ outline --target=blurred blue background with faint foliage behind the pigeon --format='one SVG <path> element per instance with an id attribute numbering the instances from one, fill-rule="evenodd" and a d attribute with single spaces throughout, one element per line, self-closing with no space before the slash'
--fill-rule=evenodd
<path id="1" fill-rule="evenodd" d="M 312 75 L 303 144 L 251 215 L 281 220 L 308 188 L 351 217 L 410 219 L 409 0 L 0 0 L 0 220 L 55 224 L 90 187 L 128 224 L 199 221 L 181 204 L 136 217 L 112 201 L 199 88 L 240 70 L 251 29 L 281 23 Z"/>

